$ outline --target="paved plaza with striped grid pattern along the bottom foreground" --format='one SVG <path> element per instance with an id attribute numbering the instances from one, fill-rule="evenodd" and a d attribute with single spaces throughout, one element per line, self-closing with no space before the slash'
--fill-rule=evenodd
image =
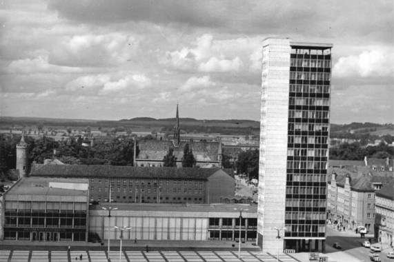
<path id="1" fill-rule="evenodd" d="M 82 260 L 80 259 L 82 255 Z M 121 261 L 124 262 L 275 262 L 275 254 L 242 251 L 238 259 L 235 251 L 124 251 Z M 0 250 L 0 261 L 4 262 L 108 262 L 106 251 L 28 251 Z M 110 251 L 110 261 L 119 261 L 119 252 Z M 288 254 L 279 254 L 279 261 L 297 262 Z"/>

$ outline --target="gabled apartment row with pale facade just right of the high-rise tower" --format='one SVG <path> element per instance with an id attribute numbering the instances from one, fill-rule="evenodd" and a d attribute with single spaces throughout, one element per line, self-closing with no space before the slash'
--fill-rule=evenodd
<path id="1" fill-rule="evenodd" d="M 335 226 L 355 230 L 363 225 L 375 232 L 376 196 L 386 183 L 393 181 L 393 171 L 385 159 L 330 161 L 328 168 L 327 219 Z M 391 165 L 392 165 L 391 161 Z"/>

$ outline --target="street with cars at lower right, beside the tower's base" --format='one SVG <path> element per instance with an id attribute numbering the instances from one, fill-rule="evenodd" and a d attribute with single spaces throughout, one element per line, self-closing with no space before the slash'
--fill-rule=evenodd
<path id="1" fill-rule="evenodd" d="M 369 248 L 364 248 L 362 243 L 368 240 L 368 237 L 361 239 L 359 234 L 355 232 L 338 232 L 334 230 L 331 225 L 327 225 L 327 239 L 326 239 L 326 254 L 333 252 L 346 252 L 347 254 L 359 259 L 359 261 L 370 261 L 369 259 Z M 342 246 L 342 250 L 336 250 L 333 248 L 333 244 L 337 242 Z M 373 242 L 375 243 L 375 242 Z M 380 252 L 380 259 L 384 262 L 393 262 L 394 259 L 387 258 L 388 250 Z"/>

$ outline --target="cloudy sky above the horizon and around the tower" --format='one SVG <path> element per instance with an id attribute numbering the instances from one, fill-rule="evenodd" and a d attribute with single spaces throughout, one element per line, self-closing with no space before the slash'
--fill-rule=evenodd
<path id="1" fill-rule="evenodd" d="M 262 41 L 333 43 L 331 122 L 393 123 L 393 1 L 5 0 L 0 115 L 259 120 Z"/>

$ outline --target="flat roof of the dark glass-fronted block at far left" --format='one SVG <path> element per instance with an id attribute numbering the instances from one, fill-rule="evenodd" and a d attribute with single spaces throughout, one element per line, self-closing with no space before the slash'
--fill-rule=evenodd
<path id="1" fill-rule="evenodd" d="M 44 177 L 28 177 L 17 181 L 5 195 L 35 196 L 88 196 L 87 190 L 72 190 L 50 187 L 49 183 L 89 183 L 88 179 L 47 179 Z"/>

